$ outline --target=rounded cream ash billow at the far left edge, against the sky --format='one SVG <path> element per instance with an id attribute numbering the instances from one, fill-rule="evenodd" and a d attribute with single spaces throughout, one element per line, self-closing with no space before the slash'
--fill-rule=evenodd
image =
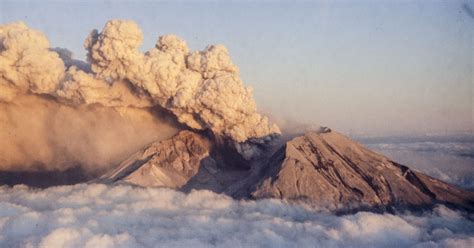
<path id="1" fill-rule="evenodd" d="M 0 26 L 0 101 L 28 92 L 54 93 L 65 68 L 48 48 L 48 39 L 23 23 Z"/>

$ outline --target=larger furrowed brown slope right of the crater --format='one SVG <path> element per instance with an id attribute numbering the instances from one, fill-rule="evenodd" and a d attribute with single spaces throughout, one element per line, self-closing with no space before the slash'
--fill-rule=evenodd
<path id="1" fill-rule="evenodd" d="M 331 130 L 284 145 L 261 171 L 254 198 L 304 199 L 332 209 L 431 206 L 474 210 L 474 193 L 395 163 Z"/>

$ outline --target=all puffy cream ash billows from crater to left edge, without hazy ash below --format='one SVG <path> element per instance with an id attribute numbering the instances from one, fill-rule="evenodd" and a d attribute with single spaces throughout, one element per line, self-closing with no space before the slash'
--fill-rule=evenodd
<path id="1" fill-rule="evenodd" d="M 256 109 L 252 90 L 222 45 L 190 52 L 174 35 L 161 36 L 145 54 L 143 35 L 132 21 L 112 20 L 93 30 L 84 47 L 92 73 L 70 66 L 64 49 L 49 49 L 38 31 L 23 23 L 1 27 L 0 100 L 24 93 L 49 94 L 75 105 L 150 107 L 170 110 L 194 129 L 209 129 L 236 142 L 279 133 Z"/>

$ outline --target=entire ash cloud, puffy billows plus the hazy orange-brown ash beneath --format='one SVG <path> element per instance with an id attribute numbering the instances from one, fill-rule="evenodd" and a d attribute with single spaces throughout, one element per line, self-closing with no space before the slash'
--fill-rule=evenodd
<path id="1" fill-rule="evenodd" d="M 247 158 L 255 151 L 245 142 L 280 132 L 257 112 L 224 46 L 190 52 L 166 35 L 143 54 L 141 42 L 134 22 L 109 21 L 87 37 L 85 63 L 24 23 L 0 26 L 0 169 L 109 163 L 176 131 L 153 119 L 156 106 Z"/>

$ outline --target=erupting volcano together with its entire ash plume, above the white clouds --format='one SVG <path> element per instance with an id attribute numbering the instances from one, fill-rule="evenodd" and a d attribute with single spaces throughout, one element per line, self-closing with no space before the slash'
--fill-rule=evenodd
<path id="1" fill-rule="evenodd" d="M 329 128 L 281 141 L 225 46 L 192 51 L 168 34 L 143 52 L 143 38 L 134 21 L 110 20 L 85 39 L 82 63 L 25 23 L 0 25 L 0 179 L 47 187 L 96 178 L 337 211 L 474 209 L 473 192 Z"/>

